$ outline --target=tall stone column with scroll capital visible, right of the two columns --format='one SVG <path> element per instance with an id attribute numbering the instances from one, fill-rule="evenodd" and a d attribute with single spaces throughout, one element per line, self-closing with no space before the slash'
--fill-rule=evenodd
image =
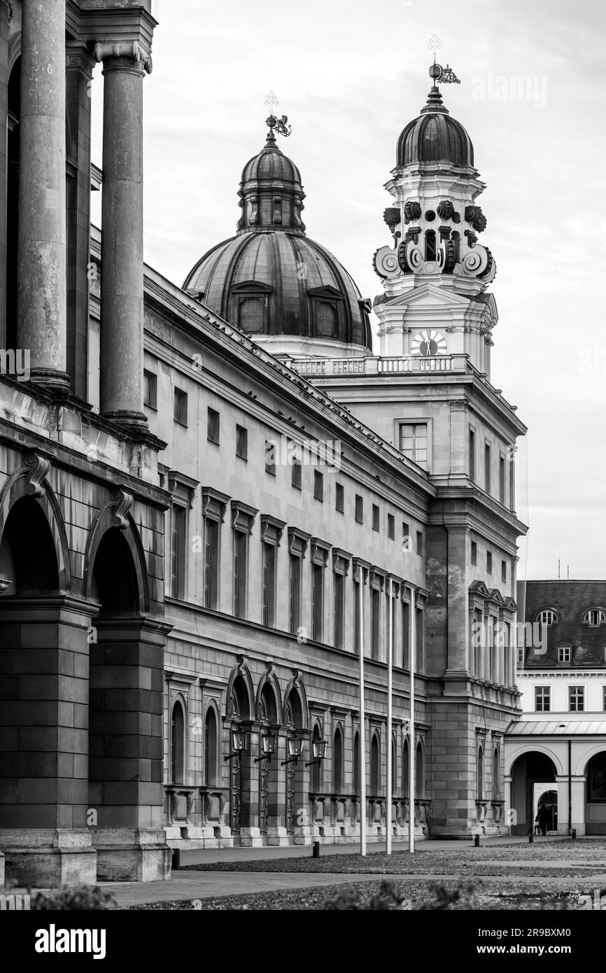
<path id="1" fill-rule="evenodd" d="M 103 62 L 100 412 L 145 431 L 143 413 L 143 77 L 138 41 L 97 44 Z"/>

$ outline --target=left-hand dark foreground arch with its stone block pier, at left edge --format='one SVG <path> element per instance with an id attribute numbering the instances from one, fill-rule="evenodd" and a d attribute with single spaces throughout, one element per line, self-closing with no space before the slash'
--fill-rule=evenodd
<path id="1" fill-rule="evenodd" d="M 25 479 L 0 503 L 0 848 L 7 879 L 54 887 L 96 878 L 85 830 L 90 610 L 61 590 L 69 567 L 50 488 Z M 64 829 L 80 831 L 78 853 L 66 853 Z"/>

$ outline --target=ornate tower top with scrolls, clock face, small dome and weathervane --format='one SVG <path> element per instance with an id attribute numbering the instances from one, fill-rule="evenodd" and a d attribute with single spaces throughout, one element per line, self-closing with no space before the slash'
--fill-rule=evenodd
<path id="1" fill-rule="evenodd" d="M 459 84 L 435 61 L 432 88 L 398 139 L 396 167 L 385 188 L 395 204 L 383 216 L 393 238 L 374 254 L 384 294 L 374 301 L 382 355 L 467 354 L 489 376 L 496 273 L 480 242 L 486 219 L 474 147 L 444 105 L 439 84 Z M 431 319 L 431 328 L 427 322 Z M 438 362 L 439 366 L 440 363 Z"/>

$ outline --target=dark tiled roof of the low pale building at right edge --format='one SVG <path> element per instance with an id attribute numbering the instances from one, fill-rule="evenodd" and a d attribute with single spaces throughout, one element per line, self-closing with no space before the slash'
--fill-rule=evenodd
<path id="1" fill-rule="evenodd" d="M 572 666 L 606 665 L 606 625 L 589 626 L 583 619 L 590 608 L 606 612 L 606 581 L 520 581 L 517 584 L 518 621 L 535 622 L 539 612 L 552 608 L 557 622 L 548 629 L 545 655 L 526 653 L 526 668 L 557 665 L 557 648 L 569 645 Z M 566 664 L 559 664 L 566 665 Z"/>

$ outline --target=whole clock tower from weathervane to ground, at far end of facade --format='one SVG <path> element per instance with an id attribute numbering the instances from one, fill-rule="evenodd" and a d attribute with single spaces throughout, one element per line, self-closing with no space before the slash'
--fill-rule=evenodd
<path id="1" fill-rule="evenodd" d="M 404 127 L 384 212 L 391 244 L 374 254 L 379 355 L 364 369 L 327 362 L 325 388 L 425 471 L 435 490 L 425 544 L 403 538 L 402 575 L 422 557 L 428 593 L 415 696 L 431 731 L 431 834 L 498 834 L 511 821 L 504 734 L 519 713 L 516 677 L 516 407 L 490 381 L 497 323 L 488 287 L 496 265 L 483 242 L 484 189 L 465 128 L 432 87 Z M 406 533 L 406 524 L 403 531 Z"/>

